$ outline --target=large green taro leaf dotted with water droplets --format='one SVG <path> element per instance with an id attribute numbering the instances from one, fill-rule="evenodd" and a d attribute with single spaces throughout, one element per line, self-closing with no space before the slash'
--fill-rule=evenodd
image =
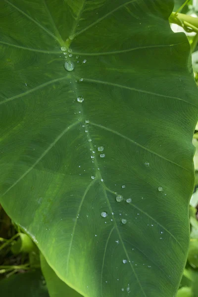
<path id="1" fill-rule="evenodd" d="M 198 102 L 172 8 L 0 1 L 0 201 L 85 297 L 179 286 Z"/>

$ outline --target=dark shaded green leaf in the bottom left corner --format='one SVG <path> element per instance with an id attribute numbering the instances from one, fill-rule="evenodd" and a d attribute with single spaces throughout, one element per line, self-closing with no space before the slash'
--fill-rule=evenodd
<path id="1" fill-rule="evenodd" d="M 0 294 L 3 297 L 49 297 L 40 269 L 0 281 Z"/>

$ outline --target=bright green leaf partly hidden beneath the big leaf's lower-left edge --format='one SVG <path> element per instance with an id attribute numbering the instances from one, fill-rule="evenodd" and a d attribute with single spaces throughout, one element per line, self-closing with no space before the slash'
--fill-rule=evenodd
<path id="1" fill-rule="evenodd" d="M 61 281 L 41 254 L 41 267 L 45 276 L 50 297 L 82 297 Z"/>

